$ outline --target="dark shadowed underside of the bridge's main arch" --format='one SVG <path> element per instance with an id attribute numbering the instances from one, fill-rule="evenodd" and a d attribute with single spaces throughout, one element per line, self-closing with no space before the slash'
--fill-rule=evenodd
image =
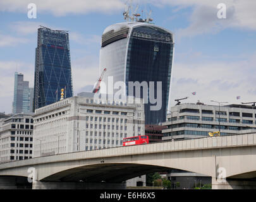
<path id="1" fill-rule="evenodd" d="M 41 181 L 123 182 L 152 172 L 168 172 L 169 167 L 138 163 L 104 163 L 85 165 L 52 174 Z"/>

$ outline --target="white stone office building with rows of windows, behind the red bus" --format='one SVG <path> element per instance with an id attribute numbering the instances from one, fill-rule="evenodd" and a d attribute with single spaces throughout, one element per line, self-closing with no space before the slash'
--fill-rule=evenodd
<path id="1" fill-rule="evenodd" d="M 35 110 L 33 157 L 122 146 L 123 138 L 145 134 L 144 121 L 140 99 L 66 98 Z"/>

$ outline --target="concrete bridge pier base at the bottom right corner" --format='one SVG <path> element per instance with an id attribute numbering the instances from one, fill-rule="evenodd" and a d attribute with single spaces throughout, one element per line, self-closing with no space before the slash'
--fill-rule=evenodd
<path id="1" fill-rule="evenodd" d="M 212 177 L 212 189 L 256 189 L 256 181 L 226 179 L 226 182 L 217 182 Z"/>

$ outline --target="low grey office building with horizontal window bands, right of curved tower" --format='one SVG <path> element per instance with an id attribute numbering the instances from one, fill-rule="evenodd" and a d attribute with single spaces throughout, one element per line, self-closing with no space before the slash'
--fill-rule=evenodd
<path id="1" fill-rule="evenodd" d="M 162 140 L 202 138 L 219 129 L 221 135 L 250 132 L 256 127 L 255 114 L 255 107 L 248 105 L 176 105 L 162 123 L 167 126 Z"/>

